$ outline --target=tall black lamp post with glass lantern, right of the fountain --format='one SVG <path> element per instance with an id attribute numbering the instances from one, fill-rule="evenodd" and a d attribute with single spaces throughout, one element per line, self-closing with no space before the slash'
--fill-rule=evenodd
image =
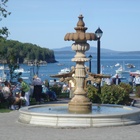
<path id="1" fill-rule="evenodd" d="M 97 37 L 97 74 L 100 74 L 100 38 L 102 37 L 103 31 L 98 28 L 95 31 L 95 35 Z M 99 93 L 101 93 L 100 84 L 98 84 Z"/>

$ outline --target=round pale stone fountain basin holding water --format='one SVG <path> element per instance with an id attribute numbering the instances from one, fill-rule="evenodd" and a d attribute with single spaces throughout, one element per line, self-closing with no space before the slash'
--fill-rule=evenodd
<path id="1" fill-rule="evenodd" d="M 94 113 L 94 107 L 120 109 L 117 112 L 98 112 Z M 45 108 L 45 109 L 44 109 Z M 67 104 L 45 104 L 23 107 L 19 110 L 18 121 L 24 124 L 47 126 L 47 127 L 103 127 L 103 126 L 124 126 L 140 123 L 140 109 L 121 105 L 97 105 L 93 104 L 92 113 L 76 114 L 60 112 L 67 110 Z M 97 108 L 97 109 L 98 109 Z M 45 112 L 38 110 L 45 110 Z M 60 109 L 60 110 L 59 110 Z M 56 111 L 55 111 L 56 110 Z M 112 110 L 112 109 L 111 109 Z M 124 110 L 124 111 L 123 111 Z"/>

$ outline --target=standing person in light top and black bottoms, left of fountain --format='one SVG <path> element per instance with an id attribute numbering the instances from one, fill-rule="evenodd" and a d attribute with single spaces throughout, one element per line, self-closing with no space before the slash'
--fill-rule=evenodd
<path id="1" fill-rule="evenodd" d="M 41 94 L 42 94 L 42 80 L 37 75 L 34 76 L 32 85 L 34 86 L 33 97 L 35 98 L 37 104 L 41 102 Z"/>

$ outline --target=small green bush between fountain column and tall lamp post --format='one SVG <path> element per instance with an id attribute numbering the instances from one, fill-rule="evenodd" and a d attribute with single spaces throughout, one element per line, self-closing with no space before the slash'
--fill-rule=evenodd
<path id="1" fill-rule="evenodd" d="M 87 86 L 87 96 L 92 103 L 101 103 L 101 99 L 98 94 L 98 89 L 93 85 Z"/>

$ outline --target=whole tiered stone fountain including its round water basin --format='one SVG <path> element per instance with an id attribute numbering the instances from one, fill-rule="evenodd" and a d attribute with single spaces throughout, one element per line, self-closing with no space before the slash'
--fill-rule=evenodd
<path id="1" fill-rule="evenodd" d="M 87 98 L 86 86 L 88 81 L 100 83 L 102 78 L 108 76 L 93 74 L 85 67 L 85 62 L 89 61 L 85 52 L 90 49 L 87 41 L 96 40 L 94 33 L 86 33 L 87 28 L 83 21 L 83 16 L 79 16 L 76 33 L 67 33 L 65 40 L 75 41 L 72 50 L 76 55 L 72 61 L 76 66 L 66 74 L 52 75 L 51 77 L 60 78 L 60 81 L 73 80 L 75 83 L 74 97 L 67 104 L 45 104 L 29 106 L 20 109 L 19 122 L 49 127 L 102 127 L 130 125 L 140 122 L 140 110 L 134 107 L 118 105 L 96 105 L 92 104 Z M 74 76 L 72 76 L 74 74 Z M 95 108 L 96 109 L 95 109 Z M 103 108 L 117 110 L 117 112 L 101 113 Z M 64 111 L 65 110 L 65 111 Z M 94 113 L 96 110 L 97 113 Z M 101 111 L 100 111 L 101 110 Z M 118 112 L 118 110 L 122 110 Z"/>

